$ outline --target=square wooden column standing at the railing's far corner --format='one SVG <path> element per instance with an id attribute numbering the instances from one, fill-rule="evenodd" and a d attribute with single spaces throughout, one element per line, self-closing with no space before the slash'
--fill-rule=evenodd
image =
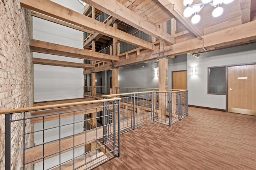
<path id="1" fill-rule="evenodd" d="M 164 32 L 167 32 L 167 23 L 164 22 L 160 25 L 160 29 Z M 159 78 L 158 78 L 158 88 L 159 91 L 166 91 L 168 89 L 168 58 L 164 55 L 164 47 L 166 47 L 166 43 L 160 40 L 160 56 L 159 56 Z M 164 96 L 165 93 L 159 93 L 159 109 L 160 114 L 158 114 L 158 118 L 166 119 L 166 107 L 168 100 Z M 161 121 L 161 120 L 160 120 Z"/>

